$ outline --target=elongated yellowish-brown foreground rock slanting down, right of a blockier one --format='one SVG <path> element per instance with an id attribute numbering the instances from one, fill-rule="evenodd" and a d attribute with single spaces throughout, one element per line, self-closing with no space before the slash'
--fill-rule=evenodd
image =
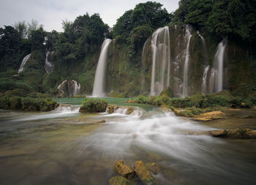
<path id="1" fill-rule="evenodd" d="M 143 184 L 153 184 L 154 178 L 151 176 L 151 173 L 146 169 L 146 166 L 144 163 L 140 161 L 135 162 L 135 173 L 140 178 L 140 181 L 143 182 Z"/>

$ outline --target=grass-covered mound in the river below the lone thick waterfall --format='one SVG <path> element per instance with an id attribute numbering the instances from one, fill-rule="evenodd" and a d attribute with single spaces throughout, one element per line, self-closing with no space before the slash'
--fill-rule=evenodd
<path id="1" fill-rule="evenodd" d="M 100 98 L 85 98 L 82 101 L 80 111 L 82 112 L 103 112 L 106 111 L 108 101 Z"/>

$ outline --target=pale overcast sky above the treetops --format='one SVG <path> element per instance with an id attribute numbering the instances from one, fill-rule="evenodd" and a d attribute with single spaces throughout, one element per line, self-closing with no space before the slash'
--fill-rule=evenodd
<path id="1" fill-rule="evenodd" d="M 62 20 L 75 20 L 75 17 L 99 13 L 112 27 L 125 11 L 133 9 L 143 0 L 0 0 L 0 27 L 14 25 L 19 21 L 37 20 L 46 31 L 63 31 Z M 153 0 L 154 1 L 154 0 Z M 179 0 L 157 0 L 168 12 L 178 8 Z"/>

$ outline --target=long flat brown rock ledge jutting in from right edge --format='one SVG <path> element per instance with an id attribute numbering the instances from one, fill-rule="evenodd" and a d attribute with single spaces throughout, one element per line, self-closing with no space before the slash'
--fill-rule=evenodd
<path id="1" fill-rule="evenodd" d="M 256 138 L 256 130 L 249 128 L 238 128 L 230 130 L 211 130 L 208 133 L 219 138 Z"/>

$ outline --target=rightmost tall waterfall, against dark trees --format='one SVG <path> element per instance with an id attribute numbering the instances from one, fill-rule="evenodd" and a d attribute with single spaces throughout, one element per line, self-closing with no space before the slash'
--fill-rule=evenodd
<path id="1" fill-rule="evenodd" d="M 219 42 L 217 52 L 214 55 L 214 65 L 211 71 L 210 77 L 210 92 L 219 92 L 223 90 L 223 64 L 225 48 L 227 46 L 227 40 L 223 39 Z"/>

